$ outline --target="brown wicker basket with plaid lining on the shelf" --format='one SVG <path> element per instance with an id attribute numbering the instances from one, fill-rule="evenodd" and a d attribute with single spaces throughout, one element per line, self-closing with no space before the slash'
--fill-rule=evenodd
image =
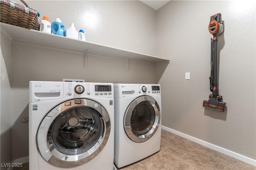
<path id="1" fill-rule="evenodd" d="M 38 12 L 29 8 L 23 0 L 21 2 L 25 6 L 9 0 L 0 0 L 1 22 L 39 30 Z"/>

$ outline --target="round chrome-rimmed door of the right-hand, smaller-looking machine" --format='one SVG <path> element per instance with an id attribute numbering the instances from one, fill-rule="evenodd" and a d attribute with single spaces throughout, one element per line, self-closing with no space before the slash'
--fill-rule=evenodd
<path id="1" fill-rule="evenodd" d="M 127 107 L 124 115 L 124 130 L 134 142 L 148 141 L 160 124 L 160 107 L 154 98 L 140 96 Z"/>

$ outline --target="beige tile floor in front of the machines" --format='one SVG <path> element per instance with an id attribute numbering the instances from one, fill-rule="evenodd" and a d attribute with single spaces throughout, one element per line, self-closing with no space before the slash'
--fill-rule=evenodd
<path id="1" fill-rule="evenodd" d="M 28 170 L 28 163 L 13 170 Z M 256 167 L 162 130 L 159 152 L 118 170 L 256 170 Z"/>

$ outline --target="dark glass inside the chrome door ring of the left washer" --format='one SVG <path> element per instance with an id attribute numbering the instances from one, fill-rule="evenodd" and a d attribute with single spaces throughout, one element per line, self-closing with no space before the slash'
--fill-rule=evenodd
<path id="1" fill-rule="evenodd" d="M 49 130 L 48 148 L 52 145 L 66 155 L 78 155 L 91 149 L 103 136 L 103 120 L 88 106 L 72 107 L 58 115 Z"/>

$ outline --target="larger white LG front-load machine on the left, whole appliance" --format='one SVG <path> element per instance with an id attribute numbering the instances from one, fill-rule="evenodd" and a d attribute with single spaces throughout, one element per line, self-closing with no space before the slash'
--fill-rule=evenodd
<path id="1" fill-rule="evenodd" d="M 29 83 L 29 169 L 112 170 L 111 83 Z"/>

